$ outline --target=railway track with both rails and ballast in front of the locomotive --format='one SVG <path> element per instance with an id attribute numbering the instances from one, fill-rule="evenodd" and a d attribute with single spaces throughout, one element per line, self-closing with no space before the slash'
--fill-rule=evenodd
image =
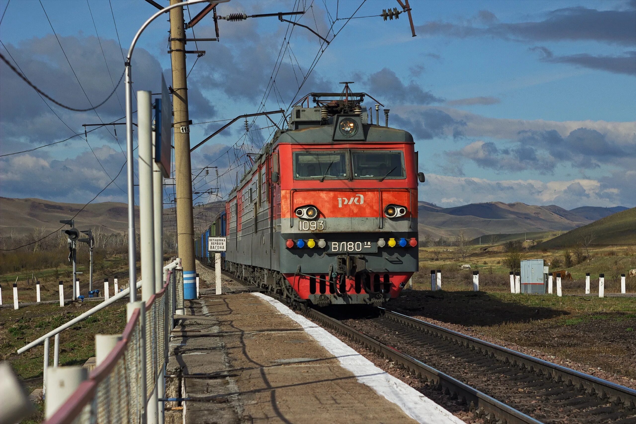
<path id="1" fill-rule="evenodd" d="M 636 423 L 636 390 L 385 308 L 339 320 L 275 297 L 395 361 L 486 423 Z"/>

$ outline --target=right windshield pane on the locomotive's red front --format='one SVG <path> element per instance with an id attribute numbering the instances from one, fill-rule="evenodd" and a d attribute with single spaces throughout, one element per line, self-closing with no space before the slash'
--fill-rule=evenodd
<path id="1" fill-rule="evenodd" d="M 401 151 L 353 150 L 354 178 L 403 179 L 404 156 Z"/>

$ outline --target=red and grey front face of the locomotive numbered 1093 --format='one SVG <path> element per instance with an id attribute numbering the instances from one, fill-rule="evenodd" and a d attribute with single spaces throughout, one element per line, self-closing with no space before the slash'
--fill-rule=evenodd
<path id="1" fill-rule="evenodd" d="M 280 273 L 313 304 L 380 304 L 418 269 L 413 139 L 365 109 L 296 107 L 277 140 Z"/>

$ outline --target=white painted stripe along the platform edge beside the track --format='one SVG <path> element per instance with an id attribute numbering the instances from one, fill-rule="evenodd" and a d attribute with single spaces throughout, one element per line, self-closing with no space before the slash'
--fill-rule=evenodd
<path id="1" fill-rule="evenodd" d="M 372 388 L 378 395 L 399 406 L 406 415 L 422 424 L 464 424 L 452 413 L 422 395 L 404 381 L 395 378 L 376 367 L 353 348 L 346 345 L 324 328 L 317 326 L 307 318 L 298 315 L 284 304 L 262 293 L 252 292 L 272 304 L 280 313 L 293 319 L 312 336 L 331 355 L 340 360 L 340 364 L 356 376 L 357 381 Z"/>

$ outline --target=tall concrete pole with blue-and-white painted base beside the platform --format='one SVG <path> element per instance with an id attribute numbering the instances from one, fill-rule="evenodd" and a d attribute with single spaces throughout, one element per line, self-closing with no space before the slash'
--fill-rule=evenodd
<path id="1" fill-rule="evenodd" d="M 170 4 L 179 0 L 170 0 Z M 190 115 L 186 83 L 186 32 L 183 7 L 170 10 L 170 57 L 172 58 L 172 111 L 174 113 L 174 170 L 177 202 L 177 243 L 183 266 L 183 297 L 195 299 L 194 219 L 190 165 Z"/>

